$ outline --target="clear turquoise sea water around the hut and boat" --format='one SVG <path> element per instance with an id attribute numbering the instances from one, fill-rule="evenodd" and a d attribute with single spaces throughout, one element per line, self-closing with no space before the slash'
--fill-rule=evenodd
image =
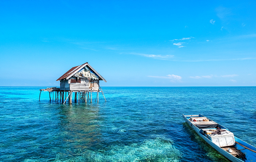
<path id="1" fill-rule="evenodd" d="M 107 102 L 50 102 L 0 87 L 1 161 L 227 161 L 184 122 L 202 114 L 256 146 L 256 87 L 103 87 Z"/>

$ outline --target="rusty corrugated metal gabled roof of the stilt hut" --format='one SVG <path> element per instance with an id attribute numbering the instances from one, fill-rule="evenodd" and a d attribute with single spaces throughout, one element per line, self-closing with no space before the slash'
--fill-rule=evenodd
<path id="1" fill-rule="evenodd" d="M 56 81 L 58 80 L 61 80 L 61 79 L 69 79 L 71 76 L 73 76 L 74 74 L 76 74 L 79 70 L 81 70 L 82 68 L 84 68 L 84 66 L 88 66 L 94 73 L 96 73 L 100 80 L 104 80 L 105 82 L 107 82 L 96 70 L 94 70 L 89 64 L 88 62 L 82 64 L 82 65 L 79 65 L 79 66 L 75 66 L 73 68 L 71 68 L 69 71 L 67 71 L 65 74 L 63 74 L 59 79 L 57 79 Z"/>

